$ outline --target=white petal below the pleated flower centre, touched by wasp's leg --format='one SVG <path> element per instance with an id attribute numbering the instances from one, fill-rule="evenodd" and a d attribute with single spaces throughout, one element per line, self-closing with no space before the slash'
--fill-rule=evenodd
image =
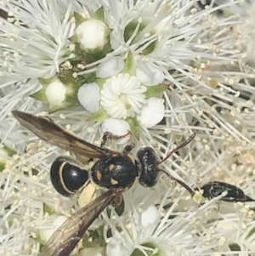
<path id="1" fill-rule="evenodd" d="M 101 129 L 103 134 L 105 132 L 110 132 L 111 134 L 116 136 L 123 136 L 130 131 L 130 126 L 126 121 L 122 119 L 107 118 L 102 123 Z M 122 139 L 116 139 L 116 144 L 124 144 L 129 138 L 130 134 Z"/>

